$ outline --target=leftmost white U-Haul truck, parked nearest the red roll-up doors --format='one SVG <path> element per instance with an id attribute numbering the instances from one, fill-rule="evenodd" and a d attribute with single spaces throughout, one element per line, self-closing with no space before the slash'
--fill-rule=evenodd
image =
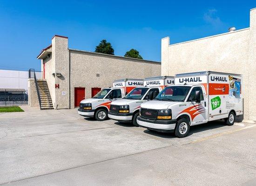
<path id="1" fill-rule="evenodd" d="M 98 121 L 108 118 L 110 103 L 113 100 L 123 98 L 136 86 L 143 86 L 143 80 L 140 79 L 122 79 L 115 80 L 113 88 L 103 88 L 99 93 L 90 99 L 80 102 L 78 113 L 85 117 L 94 117 Z"/>

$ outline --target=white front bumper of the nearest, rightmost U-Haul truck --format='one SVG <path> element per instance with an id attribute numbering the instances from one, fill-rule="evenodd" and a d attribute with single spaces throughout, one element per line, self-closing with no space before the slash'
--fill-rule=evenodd
<path id="1" fill-rule="evenodd" d="M 139 126 L 165 133 L 174 132 L 176 122 L 177 120 L 148 120 L 141 118 L 141 116 L 137 117 Z"/>

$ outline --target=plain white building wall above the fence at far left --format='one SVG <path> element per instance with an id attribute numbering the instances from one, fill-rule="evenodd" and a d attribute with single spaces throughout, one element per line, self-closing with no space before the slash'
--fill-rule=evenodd
<path id="1" fill-rule="evenodd" d="M 27 90 L 28 71 L 0 70 L 0 88 Z"/>

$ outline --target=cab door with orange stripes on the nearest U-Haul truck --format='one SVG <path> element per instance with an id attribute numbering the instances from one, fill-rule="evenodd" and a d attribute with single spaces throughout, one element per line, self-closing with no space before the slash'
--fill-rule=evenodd
<path id="1" fill-rule="evenodd" d="M 192 119 L 191 125 L 208 122 L 208 104 L 204 92 L 204 87 L 194 86 L 189 94 L 188 102 L 191 108 L 189 111 Z"/>

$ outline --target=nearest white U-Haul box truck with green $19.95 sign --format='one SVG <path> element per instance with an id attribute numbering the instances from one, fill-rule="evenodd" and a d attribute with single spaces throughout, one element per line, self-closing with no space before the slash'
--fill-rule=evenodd
<path id="1" fill-rule="evenodd" d="M 175 132 L 179 138 L 190 126 L 225 119 L 233 125 L 243 114 L 242 75 L 218 72 L 175 75 L 175 85 L 165 87 L 155 100 L 141 104 L 137 123 L 149 130 Z"/>

